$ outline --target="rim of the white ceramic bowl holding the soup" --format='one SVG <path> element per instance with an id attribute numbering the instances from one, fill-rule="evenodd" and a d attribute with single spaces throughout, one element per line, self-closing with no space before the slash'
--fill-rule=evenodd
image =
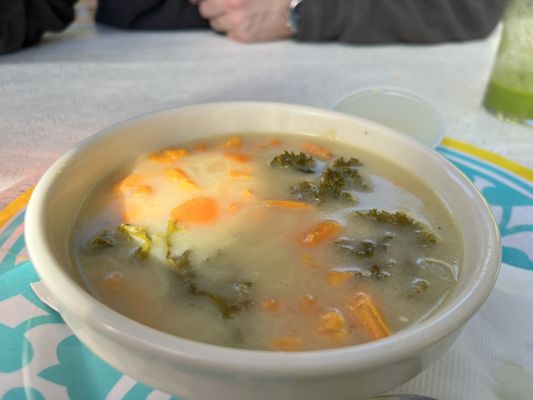
<path id="1" fill-rule="evenodd" d="M 433 153 L 435 161 L 443 165 L 453 174 L 468 193 L 477 199 L 480 206 L 480 223 L 487 232 L 486 252 L 482 260 L 481 273 L 472 279 L 468 291 L 461 298 L 454 299 L 451 307 L 444 313 L 436 313 L 435 317 L 414 326 L 394 333 L 388 338 L 335 349 L 278 352 L 261 350 L 243 350 L 218 345 L 196 342 L 158 331 L 131 320 L 112 310 L 105 304 L 92 297 L 76 282 L 74 282 L 59 265 L 52 250 L 47 246 L 45 238 L 45 204 L 49 196 L 48 190 L 60 176 L 61 170 L 85 148 L 97 144 L 99 140 L 111 135 L 114 131 L 135 125 L 146 119 L 157 119 L 162 115 L 206 112 L 223 108 L 272 108 L 282 107 L 295 113 L 313 113 L 329 115 L 335 118 L 353 120 L 356 123 L 376 128 L 376 130 L 392 134 L 400 141 L 409 141 L 419 150 Z M 344 113 L 274 102 L 216 102 L 191 105 L 186 107 L 169 108 L 147 113 L 138 117 L 114 124 L 89 136 L 78 145 L 67 151 L 56 160 L 36 185 L 28 204 L 26 218 L 26 244 L 35 269 L 41 280 L 56 298 L 75 298 L 80 309 L 96 310 L 85 316 L 92 328 L 110 335 L 114 340 L 126 344 L 131 348 L 143 348 L 157 357 L 177 361 L 192 369 L 211 369 L 218 373 L 242 373 L 246 375 L 268 375 L 277 378 L 309 377 L 318 375 L 333 375 L 357 370 L 376 368 L 384 363 L 393 363 L 412 356 L 422 349 L 439 342 L 450 333 L 458 330 L 481 307 L 492 290 L 500 267 L 501 239 L 490 208 L 477 188 L 468 178 L 441 155 L 418 143 L 410 137 L 399 134 L 373 121 L 346 115 Z M 60 291 L 55 291 L 61 288 Z M 72 296 L 72 297 L 70 297 Z M 59 304 L 62 303 L 60 300 Z M 68 323 L 68 321 L 67 321 Z M 82 338 L 83 341 L 83 338 Z"/>

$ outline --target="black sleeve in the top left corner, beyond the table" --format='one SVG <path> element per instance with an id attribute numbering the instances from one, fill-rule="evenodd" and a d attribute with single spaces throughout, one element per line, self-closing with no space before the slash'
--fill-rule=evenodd
<path id="1" fill-rule="evenodd" d="M 65 29 L 76 0 L 0 0 L 0 54 L 31 46 L 44 32 Z"/>

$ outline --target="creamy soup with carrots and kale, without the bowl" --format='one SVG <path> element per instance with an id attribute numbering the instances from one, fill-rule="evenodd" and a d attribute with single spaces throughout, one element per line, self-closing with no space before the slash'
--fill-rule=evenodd
<path id="1" fill-rule="evenodd" d="M 462 243 L 427 184 L 376 154 L 242 134 L 113 171 L 82 205 L 72 253 L 95 297 L 145 325 L 300 351 L 424 320 L 457 282 Z"/>

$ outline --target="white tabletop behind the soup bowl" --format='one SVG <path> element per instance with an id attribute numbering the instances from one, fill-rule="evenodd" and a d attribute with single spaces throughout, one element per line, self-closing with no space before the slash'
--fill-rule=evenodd
<path id="1" fill-rule="evenodd" d="M 35 181 L 66 149 L 139 114 L 227 100 L 331 108 L 374 85 L 422 94 L 441 111 L 447 136 L 533 168 L 533 129 L 480 105 L 497 42 L 498 32 L 431 46 L 243 45 L 209 31 L 75 24 L 0 57 L 0 207 L 8 189 Z"/>

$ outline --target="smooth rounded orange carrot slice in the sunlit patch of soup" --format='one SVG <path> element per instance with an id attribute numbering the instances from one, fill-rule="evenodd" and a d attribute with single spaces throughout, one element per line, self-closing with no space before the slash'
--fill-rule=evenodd
<path id="1" fill-rule="evenodd" d="M 174 207 L 170 218 L 191 225 L 210 225 L 219 216 L 218 202 L 211 197 L 195 197 Z"/>

